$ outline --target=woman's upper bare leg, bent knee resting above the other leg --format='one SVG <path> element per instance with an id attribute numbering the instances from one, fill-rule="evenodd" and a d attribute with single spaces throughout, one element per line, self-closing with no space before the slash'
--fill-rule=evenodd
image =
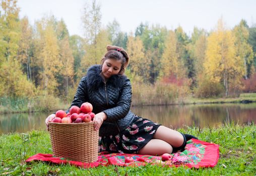
<path id="1" fill-rule="evenodd" d="M 170 144 L 172 147 L 180 147 L 184 142 L 184 137 L 182 134 L 163 125 L 158 127 L 153 138 L 161 139 Z"/>

